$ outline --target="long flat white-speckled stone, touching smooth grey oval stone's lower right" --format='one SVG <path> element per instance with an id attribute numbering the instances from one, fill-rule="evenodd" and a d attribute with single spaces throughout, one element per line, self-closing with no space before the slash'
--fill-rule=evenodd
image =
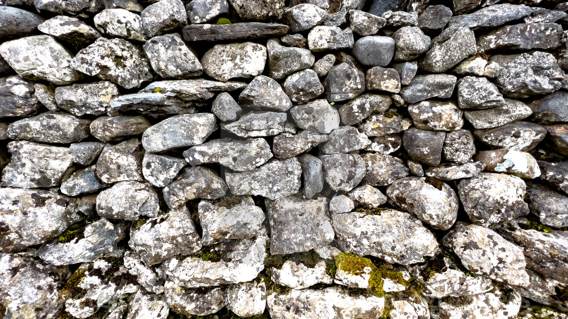
<path id="1" fill-rule="evenodd" d="M 183 156 L 190 165 L 219 163 L 234 171 L 248 171 L 268 162 L 272 152 L 264 138 L 242 141 L 222 138 L 193 146 Z"/>

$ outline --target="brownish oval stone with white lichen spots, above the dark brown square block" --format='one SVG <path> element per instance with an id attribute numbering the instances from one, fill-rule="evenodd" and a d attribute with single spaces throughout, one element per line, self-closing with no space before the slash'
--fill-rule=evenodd
<path id="1" fill-rule="evenodd" d="M 462 111 L 453 101 L 422 101 L 408 106 L 408 113 L 419 129 L 456 131 L 463 126 Z"/>

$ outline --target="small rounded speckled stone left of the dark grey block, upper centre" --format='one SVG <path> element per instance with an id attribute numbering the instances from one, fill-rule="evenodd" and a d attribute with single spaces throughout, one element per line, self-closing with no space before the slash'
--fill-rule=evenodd
<path id="1" fill-rule="evenodd" d="M 318 74 L 311 69 L 289 75 L 283 84 L 283 89 L 290 100 L 298 104 L 305 104 L 324 91 Z"/>

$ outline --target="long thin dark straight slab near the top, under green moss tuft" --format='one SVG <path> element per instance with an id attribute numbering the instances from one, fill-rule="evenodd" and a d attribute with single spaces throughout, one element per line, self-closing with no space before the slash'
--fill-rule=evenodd
<path id="1" fill-rule="evenodd" d="M 283 35 L 286 24 L 243 22 L 233 24 L 190 24 L 183 28 L 186 41 L 247 40 Z"/>

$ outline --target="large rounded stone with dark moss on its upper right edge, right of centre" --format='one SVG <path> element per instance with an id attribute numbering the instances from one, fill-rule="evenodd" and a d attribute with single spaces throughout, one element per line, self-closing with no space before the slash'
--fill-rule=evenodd
<path id="1" fill-rule="evenodd" d="M 456 223 L 458 196 L 447 184 L 424 177 L 398 179 L 387 188 L 389 203 L 410 212 L 433 228 L 448 230 Z"/>

